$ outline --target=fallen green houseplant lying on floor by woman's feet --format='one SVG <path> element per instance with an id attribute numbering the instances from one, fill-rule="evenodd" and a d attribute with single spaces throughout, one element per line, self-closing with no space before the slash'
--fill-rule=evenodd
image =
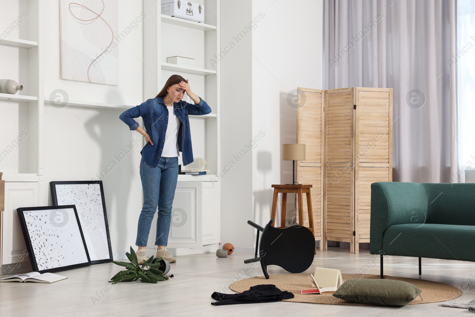
<path id="1" fill-rule="evenodd" d="M 168 279 L 168 277 L 163 275 L 164 271 L 166 274 L 168 272 L 167 269 L 170 269 L 170 264 L 168 264 L 168 261 L 162 258 L 154 259 L 153 256 L 151 256 L 149 259 L 143 262 L 142 266 L 140 266 L 138 264 L 137 255 L 133 251 L 132 247 L 130 247 L 130 253 L 126 252 L 125 255 L 131 263 L 112 261 L 112 263 L 123 266 L 126 269 L 115 274 L 108 282 L 115 284 L 118 282 L 131 282 L 136 279 L 140 279 L 141 282 L 157 283 L 158 281 L 165 281 Z"/>

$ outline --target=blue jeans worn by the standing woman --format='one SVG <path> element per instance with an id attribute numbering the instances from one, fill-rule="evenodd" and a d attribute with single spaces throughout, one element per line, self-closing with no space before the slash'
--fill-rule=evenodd
<path id="1" fill-rule="evenodd" d="M 142 156 L 140 178 L 143 189 L 143 207 L 139 216 L 135 245 L 147 246 L 150 226 L 158 205 L 155 245 L 166 247 L 170 232 L 171 205 L 178 180 L 178 157 L 162 156 L 157 167 L 152 167 L 144 161 Z"/>

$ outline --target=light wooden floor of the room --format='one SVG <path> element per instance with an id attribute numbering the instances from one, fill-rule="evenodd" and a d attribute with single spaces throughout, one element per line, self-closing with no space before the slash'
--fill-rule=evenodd
<path id="1" fill-rule="evenodd" d="M 289 254 L 291 255 L 291 254 Z M 68 278 L 52 284 L 0 283 L 0 316 L 86 317 L 86 316 L 472 316 L 466 309 L 441 307 L 440 303 L 404 307 L 364 307 L 316 305 L 288 302 L 212 306 L 214 291 L 242 277 L 262 275 L 260 265 L 243 263 L 249 254 L 232 254 L 219 259 L 214 253 L 177 257 L 171 264 L 174 278 L 158 284 L 139 281 L 111 287 L 107 282 L 121 267 L 95 264 L 86 268 L 58 272 Z M 368 250 L 351 254 L 348 249 L 318 251 L 308 272 L 315 267 L 341 269 L 343 273 L 379 274 L 379 259 Z M 385 257 L 385 274 L 418 278 L 418 259 Z M 285 273 L 276 266 L 270 274 Z M 475 298 L 475 263 L 422 259 L 422 277 L 460 288 L 458 302 Z M 109 288 L 110 291 L 105 289 Z M 103 295 L 97 295 L 102 291 Z M 232 292 L 230 292 L 232 293 Z M 96 302 L 93 302 L 93 298 Z"/>

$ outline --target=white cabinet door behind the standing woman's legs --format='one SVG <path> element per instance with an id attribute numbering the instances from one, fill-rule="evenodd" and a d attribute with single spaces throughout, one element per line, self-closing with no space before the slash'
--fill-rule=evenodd
<path id="1" fill-rule="evenodd" d="M 201 182 L 178 182 L 171 209 L 168 248 L 201 248 Z M 154 246 L 157 213 L 150 229 L 147 245 Z"/>

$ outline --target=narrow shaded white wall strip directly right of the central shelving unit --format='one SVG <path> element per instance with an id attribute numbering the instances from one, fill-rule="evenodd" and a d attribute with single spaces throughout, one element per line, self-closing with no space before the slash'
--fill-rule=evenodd
<path id="1" fill-rule="evenodd" d="M 234 37 L 252 20 L 252 1 L 221 1 L 221 243 L 252 246 L 252 156 L 235 156 L 252 140 L 252 34 Z M 235 46 L 231 49 L 229 43 Z M 226 167 L 228 166 L 228 167 Z M 220 172 L 218 172 L 220 173 Z M 250 249 L 249 249 L 250 250 Z M 245 250 L 245 251 L 249 251 Z"/>

